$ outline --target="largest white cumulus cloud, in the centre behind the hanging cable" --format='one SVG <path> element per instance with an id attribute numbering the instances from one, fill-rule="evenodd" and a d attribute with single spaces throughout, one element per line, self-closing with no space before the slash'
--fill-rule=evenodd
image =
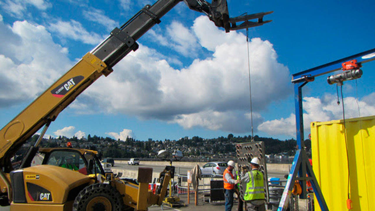
<path id="1" fill-rule="evenodd" d="M 210 25 L 213 24 L 208 18 L 199 17 L 192 29 L 199 35 L 202 47 L 213 50 L 212 57 L 196 59 L 186 68 L 174 69 L 153 49 L 140 45 L 114 67 L 110 76 L 99 78 L 89 87 L 80 102 L 89 103 L 93 110 L 161 119 L 185 128 L 233 130 L 235 121 L 225 121 L 225 115 L 234 115 L 227 120 L 240 118 L 239 124 L 246 124 L 249 119 L 245 114 L 250 108 L 246 36 L 220 30 L 211 32 L 206 29 Z M 206 35 L 216 38 L 210 40 Z M 269 41 L 252 39 L 250 50 L 252 102 L 254 112 L 259 113 L 270 102 L 290 95 L 293 88 L 288 82 L 288 68 L 277 62 L 276 51 Z M 220 118 L 214 118 L 216 114 Z M 196 122 L 183 123 L 184 120 Z M 244 131 L 243 127 L 239 128 Z"/>

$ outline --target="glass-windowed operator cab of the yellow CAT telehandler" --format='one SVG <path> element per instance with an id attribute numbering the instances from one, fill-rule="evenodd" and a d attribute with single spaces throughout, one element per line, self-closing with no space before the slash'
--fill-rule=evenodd
<path id="1" fill-rule="evenodd" d="M 102 165 L 94 151 L 72 148 L 40 148 L 39 153 L 44 154 L 42 165 L 59 166 L 84 175 L 95 173 L 104 175 Z M 93 167 L 89 167 L 90 160 L 93 160 Z"/>

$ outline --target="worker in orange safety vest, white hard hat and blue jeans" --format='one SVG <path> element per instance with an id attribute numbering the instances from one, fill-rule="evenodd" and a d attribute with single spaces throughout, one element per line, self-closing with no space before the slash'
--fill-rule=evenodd
<path id="1" fill-rule="evenodd" d="M 224 181 L 224 191 L 225 191 L 225 211 L 231 211 L 233 207 L 233 193 L 234 185 L 239 183 L 236 178 L 236 173 L 233 173 L 233 169 L 236 163 L 233 160 L 228 161 L 228 167 L 224 170 L 223 181 Z"/>

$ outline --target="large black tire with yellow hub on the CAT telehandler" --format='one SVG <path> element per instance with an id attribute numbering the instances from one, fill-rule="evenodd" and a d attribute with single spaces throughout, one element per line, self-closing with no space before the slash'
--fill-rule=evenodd
<path id="1" fill-rule="evenodd" d="M 87 186 L 75 197 L 73 211 L 123 211 L 120 193 L 109 184 Z"/>

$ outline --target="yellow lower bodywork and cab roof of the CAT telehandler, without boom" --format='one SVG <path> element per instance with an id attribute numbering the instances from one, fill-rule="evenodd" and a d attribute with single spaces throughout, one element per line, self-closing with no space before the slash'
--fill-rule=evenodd
<path id="1" fill-rule="evenodd" d="M 45 153 L 46 157 L 49 152 L 55 151 L 79 152 L 81 155 L 97 154 L 96 151 L 73 148 L 40 148 L 39 150 Z M 152 175 L 152 169 L 146 170 L 148 172 L 139 173 Z M 135 184 L 116 178 L 113 173 L 109 173 L 109 177 L 107 173 L 106 176 L 100 174 L 100 177 L 102 182 L 109 183 L 120 193 L 124 205 L 135 210 L 147 210 L 150 205 L 162 203 L 163 197 L 161 196 L 165 195 L 171 178 L 171 174 L 166 170 L 162 173 L 164 173 L 164 179 L 160 194 L 153 194 L 148 190 L 150 181 Z M 101 183 L 97 179 L 98 176 L 84 175 L 75 170 L 46 164 L 12 171 L 6 174 L 7 179 L 12 180 L 12 190 L 15 190 L 12 194 L 10 210 L 71 211 L 75 197 L 81 190 L 96 182 Z"/>

